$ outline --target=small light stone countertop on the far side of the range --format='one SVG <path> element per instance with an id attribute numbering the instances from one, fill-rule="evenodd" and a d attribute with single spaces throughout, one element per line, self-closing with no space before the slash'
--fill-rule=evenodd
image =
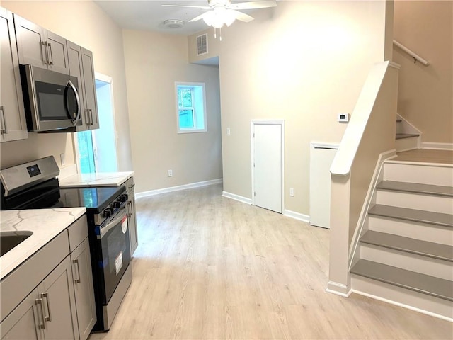
<path id="1" fill-rule="evenodd" d="M 59 186 L 62 188 L 76 188 L 81 186 L 120 186 L 132 176 L 134 176 L 134 171 L 73 174 L 64 179 L 60 179 Z"/>

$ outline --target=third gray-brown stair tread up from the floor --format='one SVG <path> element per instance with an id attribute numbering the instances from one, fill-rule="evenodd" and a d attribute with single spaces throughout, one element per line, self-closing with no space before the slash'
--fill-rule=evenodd
<path id="1" fill-rule="evenodd" d="M 377 204 L 368 210 L 368 214 L 381 217 L 398 218 L 413 222 L 429 223 L 431 225 L 441 225 L 444 227 L 453 227 L 453 215 L 444 214 L 442 212 L 432 212 Z"/>

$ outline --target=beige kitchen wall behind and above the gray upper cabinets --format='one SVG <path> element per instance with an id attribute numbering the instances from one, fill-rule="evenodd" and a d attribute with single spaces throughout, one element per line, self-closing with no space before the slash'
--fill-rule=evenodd
<path id="1" fill-rule="evenodd" d="M 96 72 L 113 78 L 120 171 L 132 170 L 122 33 L 91 1 L 1 1 L 1 6 L 93 52 Z M 71 134 L 29 133 L 28 140 L 1 144 L 1 167 L 66 153 L 74 164 Z"/>

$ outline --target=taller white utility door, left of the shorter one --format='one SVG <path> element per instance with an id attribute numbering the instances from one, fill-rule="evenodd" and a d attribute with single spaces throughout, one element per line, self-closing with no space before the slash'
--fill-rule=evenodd
<path id="1" fill-rule="evenodd" d="M 283 125 L 252 122 L 253 204 L 282 212 Z"/>

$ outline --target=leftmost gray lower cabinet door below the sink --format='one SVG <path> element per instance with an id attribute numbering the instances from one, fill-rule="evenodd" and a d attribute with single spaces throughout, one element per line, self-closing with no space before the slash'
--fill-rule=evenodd
<path id="1" fill-rule="evenodd" d="M 44 320 L 41 305 L 36 303 L 37 300 L 40 299 L 38 290 L 35 289 L 1 322 L 1 340 L 42 339 L 40 325 L 44 325 Z"/>

